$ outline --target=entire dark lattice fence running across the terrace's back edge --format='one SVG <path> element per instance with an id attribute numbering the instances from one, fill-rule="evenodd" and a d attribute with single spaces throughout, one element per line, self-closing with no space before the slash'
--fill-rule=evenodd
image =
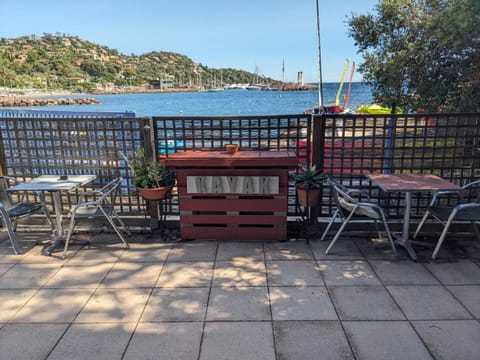
<path id="1" fill-rule="evenodd" d="M 145 204 L 120 155 L 130 157 L 141 147 L 154 158 L 188 149 L 223 149 L 228 143 L 240 149 L 295 151 L 299 165 L 313 162 L 344 185 L 367 189 L 390 217 L 401 216 L 402 195 L 382 193 L 365 173 L 427 172 L 461 185 L 480 177 L 480 114 L 0 117 L 0 134 L 2 174 L 24 180 L 40 174 L 94 173 L 99 183 L 121 175 L 125 181 L 117 205 L 123 214 L 143 215 Z M 293 184 L 289 194 L 293 214 Z M 428 201 L 428 194 L 414 194 L 413 215 L 421 214 Z M 178 214 L 176 204 L 174 198 L 170 214 Z M 319 215 L 331 215 L 333 206 L 325 186 Z"/>

